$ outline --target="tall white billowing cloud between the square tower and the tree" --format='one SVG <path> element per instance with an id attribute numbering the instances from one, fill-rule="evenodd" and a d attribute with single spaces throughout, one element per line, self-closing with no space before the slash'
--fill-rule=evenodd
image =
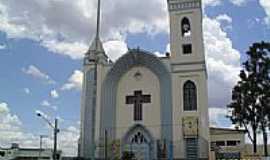
<path id="1" fill-rule="evenodd" d="M 232 87 L 238 81 L 240 53 L 233 48 L 219 20 L 205 16 L 203 30 L 209 76 L 209 106 L 225 107 L 230 102 Z"/>

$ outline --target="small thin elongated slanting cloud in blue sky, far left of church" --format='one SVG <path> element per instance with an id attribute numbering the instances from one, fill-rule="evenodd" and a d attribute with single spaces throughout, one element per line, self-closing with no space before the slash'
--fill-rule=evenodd
<path id="1" fill-rule="evenodd" d="M 34 65 L 30 65 L 28 66 L 28 68 L 23 68 L 22 71 L 25 74 L 30 75 L 33 78 L 43 80 L 48 84 L 55 84 L 55 81 L 49 75 L 47 75 L 46 73 L 43 73 Z"/>

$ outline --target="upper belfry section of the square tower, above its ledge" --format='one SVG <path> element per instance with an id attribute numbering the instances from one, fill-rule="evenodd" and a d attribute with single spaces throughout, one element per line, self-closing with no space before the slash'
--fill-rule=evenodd
<path id="1" fill-rule="evenodd" d="M 201 0 L 168 0 L 168 9 L 173 61 L 204 61 Z"/>

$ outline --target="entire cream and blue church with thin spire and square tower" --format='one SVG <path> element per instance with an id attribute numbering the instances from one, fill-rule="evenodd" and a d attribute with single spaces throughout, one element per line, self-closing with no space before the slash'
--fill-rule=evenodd
<path id="1" fill-rule="evenodd" d="M 112 62 L 99 36 L 98 1 L 97 33 L 83 63 L 80 157 L 208 159 L 202 2 L 167 3 L 171 53 L 129 49 Z"/>

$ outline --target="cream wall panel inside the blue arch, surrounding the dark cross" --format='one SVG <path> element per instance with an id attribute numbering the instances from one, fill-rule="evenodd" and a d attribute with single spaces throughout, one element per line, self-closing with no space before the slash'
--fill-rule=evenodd
<path id="1" fill-rule="evenodd" d="M 142 77 L 137 80 L 134 75 L 140 72 Z M 143 120 L 134 121 L 134 105 L 126 104 L 126 96 L 134 95 L 135 90 L 151 95 L 151 103 L 143 104 Z M 157 76 L 145 67 L 130 69 L 119 81 L 116 106 L 116 137 L 121 139 L 134 124 L 144 125 L 155 138 L 160 137 L 160 84 Z"/>

